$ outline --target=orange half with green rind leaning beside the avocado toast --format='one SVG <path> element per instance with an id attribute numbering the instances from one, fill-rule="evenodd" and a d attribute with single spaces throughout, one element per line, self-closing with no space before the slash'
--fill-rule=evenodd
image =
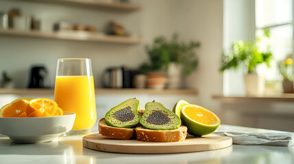
<path id="1" fill-rule="evenodd" d="M 195 136 L 208 135 L 219 127 L 221 120 L 215 113 L 199 105 L 184 105 L 181 119 L 188 127 L 188 133 Z"/>

